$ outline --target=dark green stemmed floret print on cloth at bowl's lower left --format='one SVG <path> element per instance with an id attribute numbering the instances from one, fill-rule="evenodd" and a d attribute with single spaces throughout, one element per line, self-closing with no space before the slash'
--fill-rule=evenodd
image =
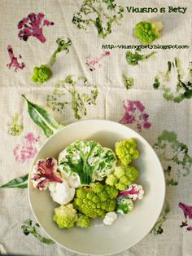
<path id="1" fill-rule="evenodd" d="M 28 234 L 32 234 L 33 236 L 35 236 L 37 238 L 38 241 L 41 241 L 41 243 L 47 244 L 47 245 L 51 245 L 51 244 L 55 244 L 54 241 L 52 241 L 50 238 L 46 238 L 44 236 L 41 236 L 38 232 L 36 227 L 40 227 L 38 223 L 36 223 L 33 226 L 32 220 L 31 219 L 27 219 L 24 221 L 24 224 L 21 226 L 21 230 L 24 233 L 25 236 L 28 236 Z"/>

